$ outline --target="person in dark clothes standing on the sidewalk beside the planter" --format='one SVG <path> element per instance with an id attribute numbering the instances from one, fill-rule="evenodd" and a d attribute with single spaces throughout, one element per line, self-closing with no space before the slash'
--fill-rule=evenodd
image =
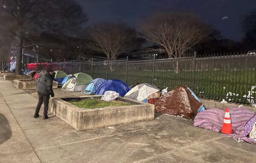
<path id="1" fill-rule="evenodd" d="M 36 90 L 38 94 L 38 105 L 35 109 L 35 115 L 34 118 L 39 117 L 39 110 L 41 108 L 41 105 L 44 102 L 44 120 L 48 118 L 48 104 L 50 95 L 51 97 L 54 97 L 54 93 L 52 90 L 52 82 L 55 76 L 55 72 L 50 70 L 49 72 L 44 71 L 40 77 L 38 78 L 36 82 Z"/>

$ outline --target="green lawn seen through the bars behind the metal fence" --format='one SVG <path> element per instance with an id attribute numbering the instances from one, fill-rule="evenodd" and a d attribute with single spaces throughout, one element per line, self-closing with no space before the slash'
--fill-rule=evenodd
<path id="1" fill-rule="evenodd" d="M 106 79 L 105 70 L 94 70 L 93 72 L 93 78 L 103 77 Z M 243 96 L 248 95 L 248 91 L 256 84 L 256 71 L 253 69 L 196 71 L 195 80 L 193 71 L 180 71 L 175 74 L 175 71 L 156 70 L 154 76 L 154 84 L 159 89 L 168 87 L 168 91 L 170 91 L 176 86 L 187 85 L 198 97 L 213 100 L 222 100 L 228 92 L 232 92 L 238 94 L 238 96 L 229 97 L 231 102 L 236 103 L 248 103 Z M 109 72 L 108 79 L 120 79 L 125 82 L 125 71 L 117 69 Z M 126 83 L 133 87 L 137 82 L 153 83 L 153 72 L 145 69 L 129 70 Z M 253 93 L 252 97 L 256 98 L 256 94 Z"/>

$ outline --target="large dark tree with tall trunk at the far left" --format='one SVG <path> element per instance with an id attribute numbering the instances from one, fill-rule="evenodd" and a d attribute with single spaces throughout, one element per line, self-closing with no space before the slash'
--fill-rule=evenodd
<path id="1" fill-rule="evenodd" d="M 16 73 L 21 74 L 23 48 L 40 44 L 43 32 L 72 34 L 87 21 L 73 0 L 0 0 L 0 31 L 19 38 Z"/>

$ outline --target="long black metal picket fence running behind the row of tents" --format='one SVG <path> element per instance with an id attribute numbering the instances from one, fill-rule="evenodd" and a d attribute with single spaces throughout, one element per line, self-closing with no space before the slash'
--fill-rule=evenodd
<path id="1" fill-rule="evenodd" d="M 256 54 L 216 53 L 204 57 L 192 56 L 168 59 L 123 58 L 102 62 L 48 63 L 35 70 L 52 69 L 67 74 L 84 72 L 94 79 L 119 79 L 129 86 L 152 83 L 159 89 L 171 90 L 189 86 L 198 97 L 255 104 Z"/>

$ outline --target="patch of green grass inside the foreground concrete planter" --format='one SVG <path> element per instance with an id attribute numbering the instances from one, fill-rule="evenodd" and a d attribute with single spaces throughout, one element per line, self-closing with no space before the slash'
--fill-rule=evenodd
<path id="1" fill-rule="evenodd" d="M 105 108 L 109 106 L 129 106 L 129 103 L 123 101 L 103 101 L 99 98 L 94 99 L 85 99 L 79 101 L 67 101 L 79 108 L 86 108 L 86 109 L 96 109 L 96 108 Z"/>

